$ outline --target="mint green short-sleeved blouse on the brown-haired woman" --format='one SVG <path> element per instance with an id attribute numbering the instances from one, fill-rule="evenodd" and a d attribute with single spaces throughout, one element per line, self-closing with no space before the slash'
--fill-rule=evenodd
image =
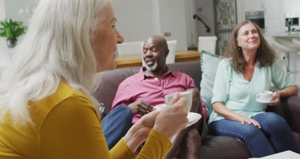
<path id="1" fill-rule="evenodd" d="M 212 103 L 221 101 L 233 112 L 249 118 L 264 113 L 267 104 L 255 101 L 256 94 L 269 90 L 271 83 L 282 90 L 295 85 L 290 76 L 274 62 L 272 66 L 259 67 L 257 62 L 251 82 L 244 79 L 243 73 L 236 73 L 230 66 L 230 59 L 222 59 L 216 73 Z M 208 123 L 224 119 L 220 114 L 212 112 Z"/>

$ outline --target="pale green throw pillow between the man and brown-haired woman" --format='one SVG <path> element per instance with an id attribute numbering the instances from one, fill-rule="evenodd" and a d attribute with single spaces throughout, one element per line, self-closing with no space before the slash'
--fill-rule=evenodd
<path id="1" fill-rule="evenodd" d="M 211 54 L 204 50 L 201 51 L 201 71 L 202 79 L 200 82 L 201 99 L 205 104 L 208 118 L 213 112 L 212 97 L 215 76 L 217 73 L 221 56 Z"/>

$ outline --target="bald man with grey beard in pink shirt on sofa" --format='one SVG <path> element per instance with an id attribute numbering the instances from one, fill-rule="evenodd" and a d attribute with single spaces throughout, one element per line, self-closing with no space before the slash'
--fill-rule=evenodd
<path id="1" fill-rule="evenodd" d="M 162 36 L 151 36 L 144 42 L 143 60 L 146 66 L 142 67 L 137 74 L 126 78 L 119 85 L 112 103 L 113 111 L 115 108 L 127 107 L 127 110 L 123 111 L 122 115 L 124 115 L 124 113 L 128 114 L 128 108 L 130 108 L 132 113 L 130 115 L 133 115 L 133 118 L 127 118 L 128 120 L 123 121 L 125 125 L 128 125 L 127 122 L 129 122 L 130 119 L 132 119 L 132 121 L 130 121 L 131 124 L 135 124 L 141 116 L 154 111 L 156 105 L 164 104 L 165 95 L 175 92 L 192 92 L 193 105 L 191 112 L 197 112 L 203 116 L 200 93 L 195 87 L 194 80 L 187 74 L 171 71 L 166 66 L 168 53 L 167 41 Z M 198 129 L 199 125 L 201 125 L 201 127 L 203 125 L 201 121 L 202 120 L 192 125 L 188 130 L 188 135 L 186 135 L 186 147 L 194 147 L 192 150 L 189 150 L 190 152 L 187 152 L 186 155 L 189 155 L 186 156 L 187 158 L 198 157 L 198 154 L 195 154 L 198 151 L 195 149 L 200 148 L 200 141 L 197 144 L 195 140 L 200 140 Z M 105 126 L 105 123 L 103 125 Z M 121 127 L 122 126 L 119 126 L 118 128 Z M 110 132 L 106 131 L 105 128 L 103 130 L 106 139 L 109 139 L 111 134 L 115 133 L 115 130 L 112 129 Z M 118 139 L 115 139 L 115 141 L 118 141 Z M 110 145 L 109 141 L 107 142 L 108 145 Z M 194 146 L 191 146 L 191 144 L 194 144 Z"/>

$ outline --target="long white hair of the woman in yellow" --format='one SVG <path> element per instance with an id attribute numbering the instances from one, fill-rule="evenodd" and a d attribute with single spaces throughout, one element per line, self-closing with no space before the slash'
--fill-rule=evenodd
<path id="1" fill-rule="evenodd" d="M 0 76 L 0 121 L 33 123 L 33 102 L 57 90 L 64 81 L 92 95 L 100 84 L 91 46 L 93 32 L 105 17 L 107 0 L 41 0 L 26 34 L 14 49 L 13 61 Z"/>

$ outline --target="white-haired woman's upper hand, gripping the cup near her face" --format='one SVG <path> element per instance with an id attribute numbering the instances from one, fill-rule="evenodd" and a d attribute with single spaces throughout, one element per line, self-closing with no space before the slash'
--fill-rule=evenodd
<path id="1" fill-rule="evenodd" d="M 187 98 L 179 99 L 179 94 L 176 93 L 167 107 L 157 116 L 153 129 L 171 139 L 179 130 L 186 127 L 189 121 L 187 103 Z"/>

